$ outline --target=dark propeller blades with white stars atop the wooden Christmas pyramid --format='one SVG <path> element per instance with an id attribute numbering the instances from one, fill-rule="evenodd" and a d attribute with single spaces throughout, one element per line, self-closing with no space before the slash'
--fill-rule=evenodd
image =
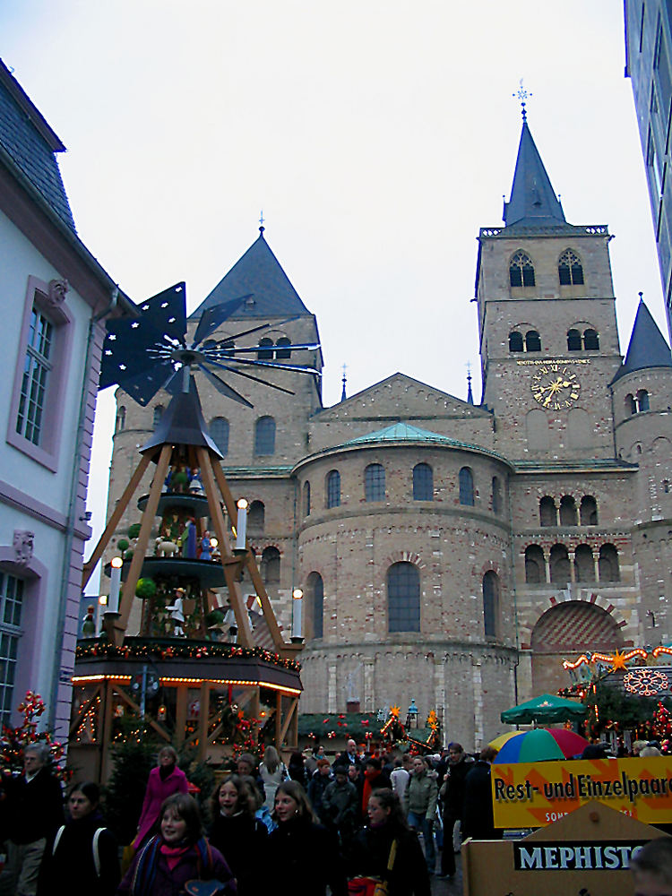
<path id="1" fill-rule="evenodd" d="M 187 391 L 189 374 L 198 370 L 218 392 L 248 408 L 253 407 L 250 401 L 223 380 L 219 371 L 224 371 L 227 379 L 239 376 L 293 395 L 290 389 L 253 374 L 252 370 L 255 369 L 258 374 L 263 373 L 264 369 L 289 370 L 313 376 L 319 376 L 319 371 L 308 365 L 283 364 L 273 360 L 263 346 L 237 345 L 237 340 L 267 330 L 271 323 L 259 324 L 222 340 L 210 338 L 250 297 L 240 296 L 207 308 L 191 343 L 187 342 L 186 336 L 185 283 L 177 283 L 158 296 L 147 299 L 138 306 L 136 318 L 109 321 L 103 342 L 99 389 L 117 384 L 145 407 L 161 388 L 171 394 Z M 281 321 L 280 325 L 293 320 L 296 317 Z M 272 325 L 279 324 L 275 322 Z M 288 343 L 282 348 L 283 354 L 289 358 L 292 351 L 316 351 L 320 344 Z"/>

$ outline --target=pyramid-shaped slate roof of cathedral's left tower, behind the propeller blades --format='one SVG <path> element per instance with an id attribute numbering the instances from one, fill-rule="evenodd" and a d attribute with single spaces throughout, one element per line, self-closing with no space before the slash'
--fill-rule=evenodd
<path id="1" fill-rule="evenodd" d="M 252 297 L 238 309 L 236 320 L 310 314 L 261 233 L 189 320 L 198 320 L 206 308 L 247 293 L 252 293 Z"/>

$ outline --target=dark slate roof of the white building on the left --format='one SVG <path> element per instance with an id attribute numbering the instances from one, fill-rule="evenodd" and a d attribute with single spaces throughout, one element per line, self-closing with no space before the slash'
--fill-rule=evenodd
<path id="1" fill-rule="evenodd" d="M 65 146 L 0 60 L 0 146 L 58 217 L 74 230 L 56 161 Z"/>

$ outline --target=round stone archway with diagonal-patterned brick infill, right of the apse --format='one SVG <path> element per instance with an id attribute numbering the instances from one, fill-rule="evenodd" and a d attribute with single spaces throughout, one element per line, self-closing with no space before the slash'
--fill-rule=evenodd
<path id="1" fill-rule="evenodd" d="M 563 659 L 585 650 L 611 652 L 624 647 L 621 627 L 594 603 L 568 600 L 540 616 L 532 630 L 532 692 L 555 694 L 570 684 Z"/>

